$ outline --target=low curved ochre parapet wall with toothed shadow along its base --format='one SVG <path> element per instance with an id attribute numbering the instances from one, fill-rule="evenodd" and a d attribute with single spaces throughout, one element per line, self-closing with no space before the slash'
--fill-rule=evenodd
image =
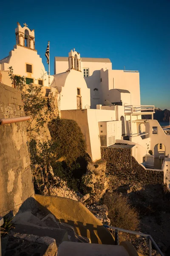
<path id="1" fill-rule="evenodd" d="M 95 244 L 114 244 L 111 233 L 82 203 L 68 198 L 34 195 L 20 207 L 20 212 L 31 211 L 33 215 L 54 215 L 56 221 L 74 227 L 80 236 L 91 239 Z"/>

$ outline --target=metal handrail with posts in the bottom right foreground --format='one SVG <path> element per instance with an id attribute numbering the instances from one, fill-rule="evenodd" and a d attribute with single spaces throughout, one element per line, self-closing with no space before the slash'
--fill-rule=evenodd
<path id="1" fill-rule="evenodd" d="M 132 230 L 125 230 L 125 229 L 122 229 L 122 228 L 119 228 L 119 227 L 113 227 L 113 226 L 108 226 L 108 225 L 103 225 L 103 226 L 108 228 L 109 230 L 115 230 L 115 243 L 116 243 L 116 245 L 119 245 L 119 234 L 118 234 L 118 231 L 125 232 L 125 233 L 130 233 L 130 234 L 134 234 L 134 235 L 138 235 L 138 236 L 144 236 L 144 237 L 146 237 L 148 239 L 149 256 L 152 256 L 152 244 L 154 245 L 156 250 L 159 251 L 159 254 L 161 256 L 164 256 L 164 254 L 161 252 L 161 250 L 159 249 L 159 247 L 156 244 L 156 242 L 153 240 L 152 236 L 150 236 L 148 234 L 144 234 L 144 233 L 137 232 L 137 231 L 132 231 Z"/>

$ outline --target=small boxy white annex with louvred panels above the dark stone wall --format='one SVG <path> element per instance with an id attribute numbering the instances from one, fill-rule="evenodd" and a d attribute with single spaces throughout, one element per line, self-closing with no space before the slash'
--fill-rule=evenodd
<path id="1" fill-rule="evenodd" d="M 121 121 L 98 122 L 100 144 L 102 147 L 108 147 L 115 144 L 116 139 L 121 139 Z"/>

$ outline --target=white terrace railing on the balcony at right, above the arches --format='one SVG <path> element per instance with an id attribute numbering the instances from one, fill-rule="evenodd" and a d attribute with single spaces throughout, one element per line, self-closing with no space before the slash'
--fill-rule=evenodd
<path id="1" fill-rule="evenodd" d="M 153 105 L 125 105 L 125 115 L 142 115 L 155 113 L 155 106 Z"/>

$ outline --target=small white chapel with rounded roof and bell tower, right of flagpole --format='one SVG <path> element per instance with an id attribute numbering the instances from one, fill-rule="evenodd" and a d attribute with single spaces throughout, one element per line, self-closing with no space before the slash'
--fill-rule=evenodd
<path id="1" fill-rule="evenodd" d="M 90 108 L 90 89 L 81 73 L 81 58 L 76 51 L 69 52 L 68 68 L 54 75 L 51 87 L 57 89 L 59 110 Z"/>

